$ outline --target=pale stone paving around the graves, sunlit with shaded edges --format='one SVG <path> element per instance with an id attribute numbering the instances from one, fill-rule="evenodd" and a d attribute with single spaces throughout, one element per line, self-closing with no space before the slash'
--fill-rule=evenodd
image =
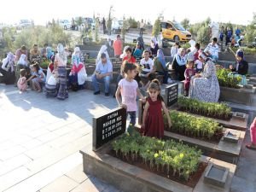
<path id="1" fill-rule="evenodd" d="M 117 107 L 112 96 L 92 93 L 59 101 L 0 84 L 0 191 L 119 191 L 83 172 L 79 149 L 91 145 L 92 117 Z M 256 152 L 244 145 L 230 191 L 256 191 Z"/>

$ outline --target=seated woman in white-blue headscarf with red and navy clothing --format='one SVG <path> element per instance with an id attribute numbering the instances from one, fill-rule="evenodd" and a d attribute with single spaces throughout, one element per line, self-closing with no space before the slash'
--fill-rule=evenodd
<path id="1" fill-rule="evenodd" d="M 79 55 L 72 56 L 72 68 L 68 81 L 72 90 L 81 90 L 87 77 L 84 64 L 80 61 Z"/>

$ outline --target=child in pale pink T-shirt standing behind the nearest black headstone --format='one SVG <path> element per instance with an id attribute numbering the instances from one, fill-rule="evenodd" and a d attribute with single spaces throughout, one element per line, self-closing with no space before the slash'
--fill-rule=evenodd
<path id="1" fill-rule="evenodd" d="M 130 124 L 136 123 L 137 102 L 136 98 L 139 96 L 144 100 L 143 95 L 138 89 L 137 81 L 134 78 L 137 75 L 137 66 L 132 63 L 125 63 L 124 67 L 125 78 L 119 81 L 118 89 L 115 97 L 119 106 L 126 108 L 127 116 L 130 115 Z M 120 94 L 122 99 L 120 98 Z"/>

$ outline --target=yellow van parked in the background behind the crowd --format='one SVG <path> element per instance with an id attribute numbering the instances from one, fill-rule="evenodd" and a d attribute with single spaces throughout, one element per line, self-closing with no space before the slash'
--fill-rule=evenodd
<path id="1" fill-rule="evenodd" d="M 185 30 L 183 26 L 176 21 L 162 20 L 161 32 L 163 45 L 168 41 L 188 42 L 191 39 L 191 33 Z"/>

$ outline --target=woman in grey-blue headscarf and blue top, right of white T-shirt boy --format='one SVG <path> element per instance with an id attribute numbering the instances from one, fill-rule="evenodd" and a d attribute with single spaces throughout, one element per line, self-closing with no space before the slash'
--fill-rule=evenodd
<path id="1" fill-rule="evenodd" d="M 168 83 L 168 68 L 166 67 L 165 55 L 162 49 L 158 49 L 156 57 L 154 57 L 154 68 L 157 73 L 164 75 L 163 84 Z"/>

